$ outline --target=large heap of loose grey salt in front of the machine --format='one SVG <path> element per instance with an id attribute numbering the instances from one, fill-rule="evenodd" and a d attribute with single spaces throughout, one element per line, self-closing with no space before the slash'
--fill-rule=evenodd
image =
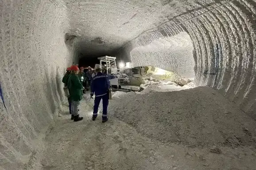
<path id="1" fill-rule="evenodd" d="M 190 147 L 256 143 L 256 121 L 210 87 L 124 98 L 113 99 L 109 113 L 148 137 Z"/>

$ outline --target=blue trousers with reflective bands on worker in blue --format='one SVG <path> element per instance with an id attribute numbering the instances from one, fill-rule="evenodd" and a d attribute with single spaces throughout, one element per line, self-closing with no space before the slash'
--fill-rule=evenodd
<path id="1" fill-rule="evenodd" d="M 93 117 L 97 117 L 98 115 L 98 109 L 102 98 L 102 120 L 107 119 L 107 113 L 108 113 L 108 105 L 109 105 L 109 94 L 105 94 L 103 96 L 97 96 L 94 99 L 94 106 L 93 106 Z"/>

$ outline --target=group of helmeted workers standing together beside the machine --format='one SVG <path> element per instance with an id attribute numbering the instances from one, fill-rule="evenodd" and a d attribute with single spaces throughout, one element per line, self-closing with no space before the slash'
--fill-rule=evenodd
<path id="1" fill-rule="evenodd" d="M 92 72 L 90 67 L 88 67 L 87 72 L 84 72 L 84 68 L 80 68 L 79 71 L 77 65 L 72 65 L 70 68 L 67 68 L 62 82 L 69 91 L 69 95 L 67 97 L 71 120 L 81 121 L 83 119 L 83 117 L 80 117 L 78 114 L 78 106 L 82 99 L 83 90 L 85 89 L 83 84 L 89 84 L 91 88 L 91 98 L 93 98 L 93 95 L 95 94 L 92 120 L 95 121 L 97 118 L 98 108 L 102 99 L 102 123 L 108 121 L 107 110 L 109 105 L 109 79 L 115 79 L 116 77 L 117 76 L 102 73 L 100 64 L 95 64 L 94 72 Z"/>

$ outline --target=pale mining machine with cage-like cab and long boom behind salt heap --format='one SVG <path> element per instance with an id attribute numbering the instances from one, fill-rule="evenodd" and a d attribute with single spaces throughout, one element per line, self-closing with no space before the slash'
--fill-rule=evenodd
<path id="1" fill-rule="evenodd" d="M 116 75 L 116 79 L 109 80 L 112 91 L 142 91 L 148 82 L 163 80 L 174 82 L 180 86 L 189 83 L 189 79 L 179 76 L 154 66 L 133 67 L 132 63 L 126 63 L 123 68 L 116 67 L 116 57 L 99 57 L 103 71 L 110 75 Z"/>

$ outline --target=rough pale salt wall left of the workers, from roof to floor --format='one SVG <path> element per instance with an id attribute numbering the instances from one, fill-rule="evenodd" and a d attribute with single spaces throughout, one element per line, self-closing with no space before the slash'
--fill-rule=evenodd
<path id="1" fill-rule="evenodd" d="M 0 169 L 17 170 L 61 106 L 66 12 L 48 0 L 1 0 L 0 11 Z"/>

